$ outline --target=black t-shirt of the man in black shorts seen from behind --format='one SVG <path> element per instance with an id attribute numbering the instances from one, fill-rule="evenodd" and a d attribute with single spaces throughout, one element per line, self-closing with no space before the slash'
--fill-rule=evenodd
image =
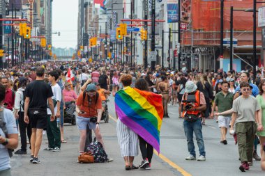
<path id="1" fill-rule="evenodd" d="M 47 109 L 47 99 L 52 97 L 53 93 L 48 83 L 38 80 L 29 83 L 25 95 L 29 97 L 29 109 Z"/>

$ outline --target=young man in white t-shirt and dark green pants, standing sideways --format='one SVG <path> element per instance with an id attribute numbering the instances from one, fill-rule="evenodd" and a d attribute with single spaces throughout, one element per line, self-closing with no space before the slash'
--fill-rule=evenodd
<path id="1" fill-rule="evenodd" d="M 50 115 L 47 115 L 47 138 L 49 145 L 44 150 L 52 150 L 53 152 L 59 152 L 61 148 L 61 134 L 60 125 L 57 125 L 61 117 L 60 114 L 60 103 L 61 103 L 61 88 L 56 80 L 59 78 L 59 73 L 57 71 L 49 72 L 49 81 L 52 84 L 52 100 L 54 102 L 54 112 L 56 112 L 56 120 L 50 121 Z M 48 114 L 49 114 L 48 109 Z"/>

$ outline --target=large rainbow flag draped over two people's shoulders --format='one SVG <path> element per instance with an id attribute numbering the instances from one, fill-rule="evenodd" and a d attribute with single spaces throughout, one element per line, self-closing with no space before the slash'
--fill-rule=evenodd
<path id="1" fill-rule="evenodd" d="M 161 95 L 128 87 L 116 93 L 115 109 L 123 124 L 160 152 Z"/>

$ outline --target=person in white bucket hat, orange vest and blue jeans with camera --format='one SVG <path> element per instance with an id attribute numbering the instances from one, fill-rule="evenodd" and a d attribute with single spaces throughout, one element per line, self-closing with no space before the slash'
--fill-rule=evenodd
<path id="1" fill-rule="evenodd" d="M 188 152 L 190 155 L 186 160 L 196 160 L 195 146 L 193 142 L 193 131 L 199 147 L 199 158 L 197 161 L 205 161 L 204 139 L 202 137 L 201 112 L 206 109 L 204 94 L 197 90 L 197 86 L 192 81 L 185 83 L 185 93 L 181 100 L 182 118 L 185 136 L 188 142 Z"/>

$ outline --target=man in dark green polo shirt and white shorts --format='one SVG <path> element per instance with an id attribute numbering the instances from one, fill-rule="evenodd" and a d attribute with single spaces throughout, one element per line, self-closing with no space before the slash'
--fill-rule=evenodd
<path id="1" fill-rule="evenodd" d="M 232 109 L 234 94 L 228 91 L 227 81 L 223 81 L 222 91 L 215 95 L 215 99 L 213 102 L 213 108 L 211 112 L 211 118 L 213 118 L 213 112 L 215 110 L 215 106 L 218 106 L 218 113 L 225 112 L 229 109 Z M 221 129 L 221 141 L 224 145 L 227 145 L 227 129 L 229 128 L 229 124 L 231 122 L 231 115 L 218 115 L 218 126 Z"/>

